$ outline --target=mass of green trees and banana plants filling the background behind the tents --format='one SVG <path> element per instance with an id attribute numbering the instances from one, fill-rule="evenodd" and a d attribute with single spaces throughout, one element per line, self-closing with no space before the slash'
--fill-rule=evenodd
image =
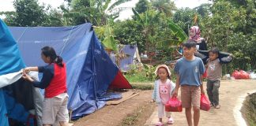
<path id="1" fill-rule="evenodd" d="M 40 5 L 38 0 L 14 0 L 13 12 L 0 12 L 9 26 L 70 26 L 91 23 L 106 49 L 118 50 L 118 44 L 136 44 L 140 54 L 162 52 L 157 60 L 173 60 L 174 46 L 186 41 L 188 29 L 201 28 L 201 37 L 209 49 L 218 47 L 235 56 L 224 67 L 224 74 L 234 69 L 256 69 L 256 3 L 254 0 L 212 0 L 194 9 L 177 9 L 170 0 L 139 0 L 130 20 L 116 20 L 122 10 L 116 8 L 130 0 L 66 0 L 59 9 Z M 115 20 L 115 21 L 114 21 Z M 139 75 L 139 73 L 136 73 Z M 150 81 L 152 77 L 142 76 Z M 147 78 L 147 79 L 146 79 Z"/>

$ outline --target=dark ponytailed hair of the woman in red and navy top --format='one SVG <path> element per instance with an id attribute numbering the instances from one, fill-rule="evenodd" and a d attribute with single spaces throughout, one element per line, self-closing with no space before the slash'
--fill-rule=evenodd
<path id="1" fill-rule="evenodd" d="M 62 57 L 57 56 L 53 47 L 44 46 L 41 50 L 44 56 L 51 58 L 51 63 L 55 62 L 58 66 L 63 67 Z"/>

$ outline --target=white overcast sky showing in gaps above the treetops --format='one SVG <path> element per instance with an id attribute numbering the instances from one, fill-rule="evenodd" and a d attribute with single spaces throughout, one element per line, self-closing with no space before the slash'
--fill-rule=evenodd
<path id="1" fill-rule="evenodd" d="M 0 11 L 13 11 L 13 0 L 0 0 Z M 38 0 L 40 4 L 45 3 L 46 5 L 51 5 L 53 8 L 57 8 L 62 5 L 64 0 Z M 202 3 L 209 3 L 208 0 L 172 0 L 178 8 L 189 7 L 193 9 L 194 7 L 200 6 Z M 120 6 L 122 7 L 134 7 L 138 0 L 132 0 L 131 2 L 126 2 Z M 133 15 L 131 10 L 125 10 L 120 13 L 120 19 L 126 19 Z"/>

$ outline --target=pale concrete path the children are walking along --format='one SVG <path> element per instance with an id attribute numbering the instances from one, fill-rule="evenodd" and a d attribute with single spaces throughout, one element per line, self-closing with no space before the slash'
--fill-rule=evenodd
<path id="1" fill-rule="evenodd" d="M 256 92 L 256 80 L 222 80 L 220 82 L 220 109 L 212 107 L 208 112 L 201 110 L 199 125 L 246 126 L 246 123 L 240 113 L 240 109 L 241 106 L 243 106 L 243 100 L 248 93 L 250 94 L 254 92 Z M 169 125 L 187 126 L 185 109 L 183 109 L 182 113 L 171 113 L 171 115 L 174 118 L 175 123 Z M 155 109 L 151 117 L 149 117 L 149 120 L 146 121 L 145 125 L 152 126 L 157 122 L 157 109 Z M 167 120 L 164 119 L 164 123 L 166 122 Z"/>

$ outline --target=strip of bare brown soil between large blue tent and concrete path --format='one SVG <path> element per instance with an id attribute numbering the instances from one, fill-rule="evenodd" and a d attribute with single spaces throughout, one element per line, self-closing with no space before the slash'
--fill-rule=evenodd
<path id="1" fill-rule="evenodd" d="M 74 122 L 73 126 L 144 125 L 155 109 L 151 103 L 152 91 L 137 91 L 139 95 L 119 105 L 104 106 Z"/>

